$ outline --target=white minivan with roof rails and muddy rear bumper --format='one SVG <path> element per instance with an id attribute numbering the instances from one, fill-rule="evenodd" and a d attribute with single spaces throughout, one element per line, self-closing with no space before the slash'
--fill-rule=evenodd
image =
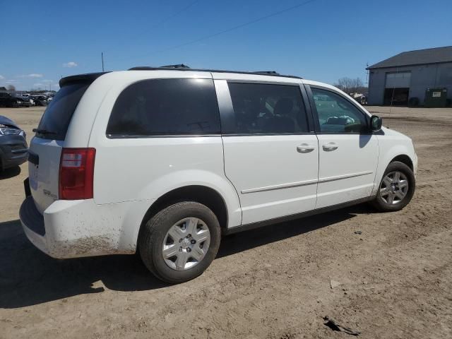
<path id="1" fill-rule="evenodd" d="M 20 220 L 55 258 L 203 273 L 221 235 L 363 201 L 400 210 L 412 141 L 324 83 L 186 66 L 69 76 L 30 144 Z"/>

